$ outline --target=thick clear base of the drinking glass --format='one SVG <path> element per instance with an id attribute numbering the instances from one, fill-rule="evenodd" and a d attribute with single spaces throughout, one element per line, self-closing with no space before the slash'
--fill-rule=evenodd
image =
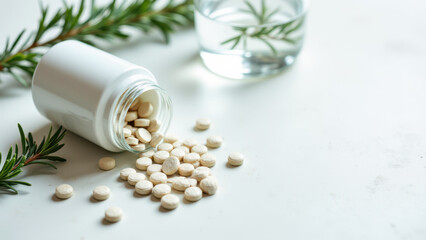
<path id="1" fill-rule="evenodd" d="M 219 76 L 232 79 L 264 77 L 276 74 L 292 65 L 296 55 L 281 57 L 261 55 L 229 55 L 201 50 L 206 67 Z"/>

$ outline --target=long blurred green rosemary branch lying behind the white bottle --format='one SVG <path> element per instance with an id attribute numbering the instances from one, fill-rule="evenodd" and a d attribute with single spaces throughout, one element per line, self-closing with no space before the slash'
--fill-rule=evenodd
<path id="1" fill-rule="evenodd" d="M 30 81 L 20 75 L 20 72 L 33 75 L 42 52 L 41 47 L 50 47 L 58 42 L 75 39 L 90 45 L 95 45 L 94 39 L 113 40 L 127 39 L 129 34 L 123 30 L 124 26 L 148 33 L 159 30 L 166 42 L 169 34 L 176 26 L 187 26 L 193 22 L 192 0 L 176 3 L 169 0 L 161 9 L 155 8 L 156 0 L 122 1 L 118 4 L 113 0 L 106 6 L 98 7 L 91 0 L 88 16 L 83 18 L 85 0 L 78 6 L 64 3 L 51 17 L 48 17 L 49 8 L 41 6 L 41 18 L 38 29 L 26 34 L 22 30 L 13 40 L 7 39 L 3 52 L 0 51 L 0 73 L 6 73 L 24 86 Z M 50 14 L 49 14 L 50 16 Z M 58 31 L 50 38 L 45 39 L 47 32 Z M 25 36 L 25 37 L 24 37 Z"/>

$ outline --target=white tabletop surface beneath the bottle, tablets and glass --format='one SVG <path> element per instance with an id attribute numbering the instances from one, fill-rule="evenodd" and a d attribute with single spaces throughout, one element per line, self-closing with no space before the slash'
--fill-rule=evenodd
<path id="1" fill-rule="evenodd" d="M 58 7 L 60 1 L 43 1 Z M 34 29 L 37 1 L 0 8 L 0 46 Z M 426 2 L 312 1 L 307 39 L 294 66 L 264 81 L 233 81 L 206 70 L 193 30 L 137 37 L 106 50 L 150 69 L 173 99 L 170 132 L 204 141 L 224 137 L 213 173 L 216 195 L 160 211 L 117 180 L 132 154 L 112 154 L 69 132 L 58 170 L 26 167 L 19 195 L 0 194 L 1 239 L 425 239 Z M 16 124 L 37 139 L 49 121 L 31 92 L 0 83 L 0 151 L 19 141 Z M 195 132 L 196 118 L 212 128 Z M 245 154 L 227 168 L 232 151 Z M 117 158 L 102 172 L 97 160 Z M 52 198 L 69 183 L 75 195 Z M 110 199 L 90 200 L 107 185 Z M 179 195 L 182 198 L 182 195 Z M 105 224 L 107 207 L 124 218 Z"/>

